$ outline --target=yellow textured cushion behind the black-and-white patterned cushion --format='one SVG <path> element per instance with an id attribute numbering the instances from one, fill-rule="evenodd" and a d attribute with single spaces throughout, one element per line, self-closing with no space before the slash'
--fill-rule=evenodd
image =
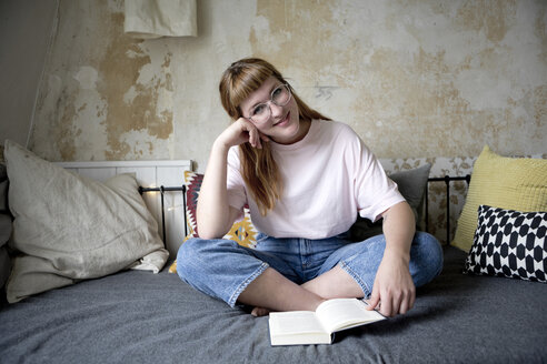
<path id="1" fill-rule="evenodd" d="M 547 160 L 505 158 L 486 145 L 473 168 L 454 246 L 465 251 L 471 247 L 477 210 L 481 204 L 527 212 L 547 211 Z"/>

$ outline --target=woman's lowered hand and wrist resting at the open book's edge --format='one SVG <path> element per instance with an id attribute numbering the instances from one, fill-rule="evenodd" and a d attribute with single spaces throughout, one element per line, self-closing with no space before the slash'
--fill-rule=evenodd
<path id="1" fill-rule="evenodd" d="M 368 300 L 369 309 L 378 307 L 384 316 L 395 316 L 412 309 L 415 300 L 416 287 L 408 269 L 408 259 L 386 250 Z"/>

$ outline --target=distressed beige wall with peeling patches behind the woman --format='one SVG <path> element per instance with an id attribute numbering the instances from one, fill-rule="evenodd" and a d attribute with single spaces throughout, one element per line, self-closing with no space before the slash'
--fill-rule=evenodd
<path id="1" fill-rule="evenodd" d="M 226 128 L 218 80 L 275 63 L 382 158 L 547 152 L 547 1 L 199 0 L 198 38 L 123 34 L 122 1 L 61 0 L 31 148 L 192 159 Z"/>

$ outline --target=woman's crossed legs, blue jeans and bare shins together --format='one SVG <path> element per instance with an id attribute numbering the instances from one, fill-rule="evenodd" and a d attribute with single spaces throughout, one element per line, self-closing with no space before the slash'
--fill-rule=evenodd
<path id="1" fill-rule="evenodd" d="M 278 246 L 282 243 L 278 242 Z M 329 253 L 317 275 L 304 284 L 296 283 L 300 279 L 279 259 L 282 253 L 242 249 L 226 240 L 186 242 L 179 250 L 177 271 L 197 290 L 231 306 L 236 301 L 255 306 L 253 315 L 267 314 L 269 310 L 312 311 L 325 300 L 371 294 L 385 250 L 384 235 L 342 245 Z M 417 233 L 410 256 L 416 286 L 440 272 L 442 251 L 434 236 Z"/>

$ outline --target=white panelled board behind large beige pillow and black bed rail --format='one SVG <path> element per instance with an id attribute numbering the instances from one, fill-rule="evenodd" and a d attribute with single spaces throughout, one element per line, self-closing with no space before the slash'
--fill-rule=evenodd
<path id="1" fill-rule="evenodd" d="M 191 170 L 190 160 L 175 161 L 106 161 L 106 162 L 59 162 L 56 163 L 67 170 L 105 182 L 121 173 L 135 173 L 140 186 L 143 188 L 171 188 L 182 186 L 185 171 Z M 147 192 L 142 194 L 145 202 L 158 222 L 161 231 L 161 193 Z M 163 210 L 166 218 L 166 247 L 170 257 L 177 256 L 177 251 L 185 239 L 185 205 L 182 192 L 165 191 Z"/>

